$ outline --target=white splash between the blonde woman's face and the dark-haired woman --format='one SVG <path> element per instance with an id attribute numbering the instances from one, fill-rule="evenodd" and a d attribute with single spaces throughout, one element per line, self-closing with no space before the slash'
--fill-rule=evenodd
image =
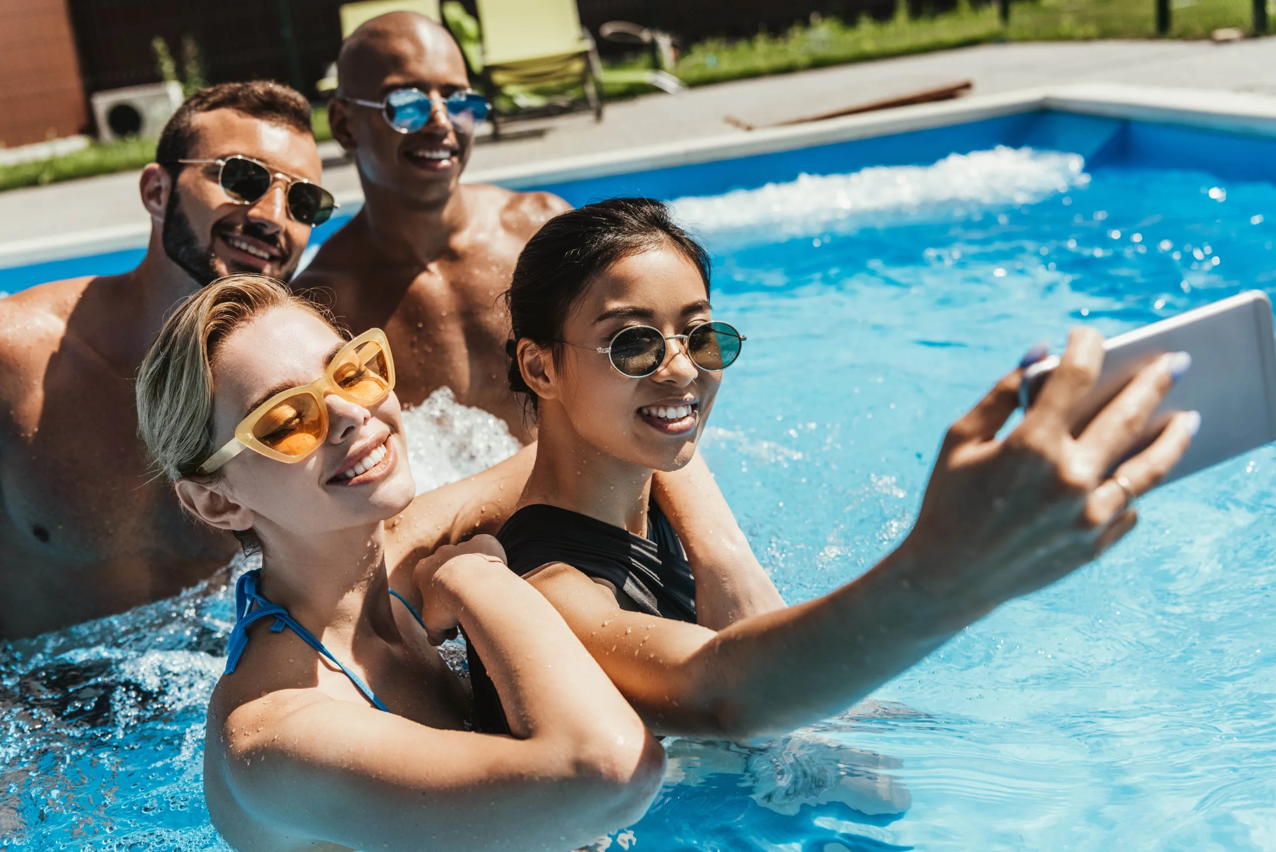
<path id="1" fill-rule="evenodd" d="M 462 406 L 450 388 L 440 388 L 406 409 L 403 431 L 417 494 L 486 471 L 521 446 L 505 421 Z"/>

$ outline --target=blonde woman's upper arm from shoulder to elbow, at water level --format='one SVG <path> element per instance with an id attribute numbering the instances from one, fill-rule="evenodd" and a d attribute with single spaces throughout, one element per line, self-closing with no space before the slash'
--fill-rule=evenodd
<path id="1" fill-rule="evenodd" d="M 226 778 L 277 832 L 362 849 L 561 852 L 635 821 L 664 774 L 651 737 L 621 760 L 575 741 L 429 728 L 328 699 L 250 731 L 230 737 L 230 754 L 227 737 L 209 737 L 205 786 Z M 209 811 L 240 846 L 242 824 L 223 819 L 223 801 L 211 796 Z"/>

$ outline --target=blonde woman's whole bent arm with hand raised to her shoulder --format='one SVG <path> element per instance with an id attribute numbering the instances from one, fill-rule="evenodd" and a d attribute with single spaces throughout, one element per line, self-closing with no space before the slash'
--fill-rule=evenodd
<path id="1" fill-rule="evenodd" d="M 448 561 L 462 551 L 444 548 L 417 577 L 431 638 L 466 629 L 514 737 L 272 693 L 236 708 L 221 745 L 209 742 L 228 755 L 240 807 L 276 834 L 360 849 L 565 852 L 635 821 L 664 750 L 499 550 L 481 540 Z"/>

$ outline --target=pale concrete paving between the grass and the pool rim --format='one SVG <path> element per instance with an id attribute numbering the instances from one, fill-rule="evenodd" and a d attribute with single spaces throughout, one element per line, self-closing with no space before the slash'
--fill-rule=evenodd
<path id="1" fill-rule="evenodd" d="M 975 94 L 1044 84 L 1127 83 L 1270 93 L 1276 97 L 1276 37 L 1210 42 L 1053 42 L 985 45 L 956 51 L 842 65 L 652 94 L 610 105 L 601 124 L 587 115 L 542 122 L 542 134 L 480 144 L 468 172 L 545 159 L 641 148 L 671 140 L 744 134 L 732 115 L 763 125 L 854 106 L 962 79 Z M 535 125 L 528 125 L 535 126 Z M 519 128 L 522 129 L 522 128 Z M 357 199 L 359 177 L 339 147 L 327 143 L 324 184 Z M 0 258 L 22 245 L 74 239 L 103 228 L 137 232 L 147 217 L 138 172 L 0 193 Z"/>

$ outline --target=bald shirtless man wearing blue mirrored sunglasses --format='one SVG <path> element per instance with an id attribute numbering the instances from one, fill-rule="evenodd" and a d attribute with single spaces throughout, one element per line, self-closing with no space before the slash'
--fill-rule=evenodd
<path id="1" fill-rule="evenodd" d="M 328 304 L 356 332 L 385 330 L 404 403 L 450 388 L 526 443 L 505 379 L 509 318 L 500 295 L 523 245 L 567 202 L 461 184 L 476 122 L 466 114 L 449 117 L 443 101 L 470 82 L 457 43 L 429 18 L 394 11 L 369 20 L 342 45 L 337 69 L 328 121 L 355 159 L 365 202 L 293 288 Z M 403 131 L 379 105 L 412 88 L 433 98 L 433 110 L 425 107 L 429 119 L 419 129 Z"/>

